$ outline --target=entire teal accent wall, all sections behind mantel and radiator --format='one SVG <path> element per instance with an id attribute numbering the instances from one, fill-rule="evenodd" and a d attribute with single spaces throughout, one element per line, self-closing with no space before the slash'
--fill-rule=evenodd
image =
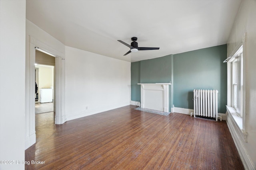
<path id="1" fill-rule="evenodd" d="M 189 51 L 131 63 L 132 101 L 140 101 L 137 83 L 169 83 L 169 106 L 193 109 L 193 90 L 218 90 L 218 112 L 226 112 L 227 46 Z M 172 95 L 173 94 L 173 95 Z"/>

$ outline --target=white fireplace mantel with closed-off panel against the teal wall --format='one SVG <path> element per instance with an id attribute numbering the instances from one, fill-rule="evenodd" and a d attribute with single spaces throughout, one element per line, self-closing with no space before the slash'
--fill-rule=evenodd
<path id="1" fill-rule="evenodd" d="M 169 85 L 171 83 L 140 84 L 140 107 L 169 112 Z"/>

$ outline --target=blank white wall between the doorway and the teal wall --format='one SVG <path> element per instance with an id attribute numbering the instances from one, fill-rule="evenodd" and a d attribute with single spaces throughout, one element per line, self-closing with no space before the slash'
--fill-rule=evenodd
<path id="1" fill-rule="evenodd" d="M 67 120 L 130 105 L 130 62 L 66 47 Z"/>

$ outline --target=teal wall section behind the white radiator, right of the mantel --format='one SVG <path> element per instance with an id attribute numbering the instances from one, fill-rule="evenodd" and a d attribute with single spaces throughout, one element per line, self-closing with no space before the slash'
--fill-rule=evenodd
<path id="1" fill-rule="evenodd" d="M 218 90 L 218 112 L 226 112 L 227 45 L 174 55 L 174 107 L 193 109 L 193 90 Z"/>

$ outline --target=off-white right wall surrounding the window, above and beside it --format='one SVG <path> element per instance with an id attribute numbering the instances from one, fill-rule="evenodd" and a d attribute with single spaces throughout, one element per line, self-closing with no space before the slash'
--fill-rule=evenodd
<path id="1" fill-rule="evenodd" d="M 236 17 L 228 40 L 228 56 L 236 50 L 236 47 L 242 42 L 244 33 L 246 38 L 246 101 L 245 101 L 245 131 L 248 133 L 248 142 L 245 143 L 242 138 L 238 140 L 242 143 L 248 157 L 252 160 L 247 162 L 246 168 L 256 167 L 256 1 L 244 0 Z M 234 136 L 233 136 L 234 137 Z"/>

